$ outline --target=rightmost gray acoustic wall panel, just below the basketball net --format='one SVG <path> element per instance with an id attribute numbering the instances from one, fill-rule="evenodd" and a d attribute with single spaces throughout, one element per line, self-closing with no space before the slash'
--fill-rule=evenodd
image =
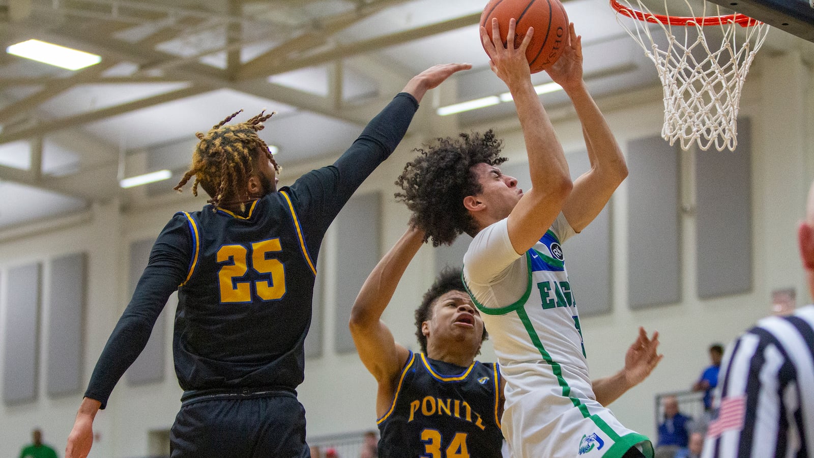
<path id="1" fill-rule="evenodd" d="M 752 287 L 751 125 L 737 120 L 734 152 L 695 156 L 698 297 Z"/>

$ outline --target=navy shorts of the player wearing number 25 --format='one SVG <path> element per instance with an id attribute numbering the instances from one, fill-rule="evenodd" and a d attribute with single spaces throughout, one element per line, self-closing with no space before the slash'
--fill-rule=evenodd
<path id="1" fill-rule="evenodd" d="M 172 458 L 309 458 L 305 409 L 295 394 L 200 396 L 183 401 L 170 431 Z"/>

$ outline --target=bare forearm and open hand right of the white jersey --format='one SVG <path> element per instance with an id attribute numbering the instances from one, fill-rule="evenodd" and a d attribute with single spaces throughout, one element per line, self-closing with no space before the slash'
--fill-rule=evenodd
<path id="1" fill-rule="evenodd" d="M 628 348 L 624 357 L 624 369 L 610 377 L 593 381 L 593 394 L 597 401 L 606 406 L 644 381 L 664 357 L 656 352 L 658 347 L 659 331 L 653 332 L 653 337 L 648 338 L 645 328 L 639 328 L 639 337 Z"/>

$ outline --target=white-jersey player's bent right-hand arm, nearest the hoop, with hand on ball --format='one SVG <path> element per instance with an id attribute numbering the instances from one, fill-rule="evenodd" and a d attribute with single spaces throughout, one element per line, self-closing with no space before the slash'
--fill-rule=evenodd
<path id="1" fill-rule="evenodd" d="M 575 180 L 574 189 L 562 205 L 562 214 L 574 231 L 579 232 L 605 207 L 610 196 L 628 176 L 628 166 L 610 126 L 582 79 L 582 37 L 576 34 L 573 23 L 569 25 L 568 32 L 571 46 L 566 47 L 548 73 L 574 104 L 591 163 L 591 169 Z"/>

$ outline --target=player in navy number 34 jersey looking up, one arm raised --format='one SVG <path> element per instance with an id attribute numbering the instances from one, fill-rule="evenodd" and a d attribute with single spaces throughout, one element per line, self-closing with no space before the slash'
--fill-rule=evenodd
<path id="1" fill-rule="evenodd" d="M 411 227 L 362 286 L 350 328 L 359 357 L 379 383 L 379 458 L 500 457 L 503 379 L 475 356 L 487 334 L 463 286 L 444 271 L 415 312 L 422 353 L 394 341 L 380 317 L 424 232 Z"/>

